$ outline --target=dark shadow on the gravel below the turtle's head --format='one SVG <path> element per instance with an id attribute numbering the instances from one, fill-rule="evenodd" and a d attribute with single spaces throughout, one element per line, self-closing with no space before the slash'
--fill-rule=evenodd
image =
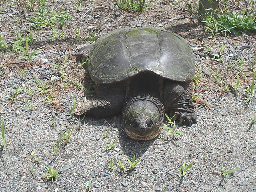
<path id="1" fill-rule="evenodd" d="M 148 141 L 140 141 L 131 139 L 123 129 L 118 130 L 119 134 L 119 144 L 122 148 L 124 154 L 131 160 L 135 155 L 136 159 L 142 156 L 150 146 L 154 143 L 154 141 L 158 138 L 158 136 L 152 140 Z"/>

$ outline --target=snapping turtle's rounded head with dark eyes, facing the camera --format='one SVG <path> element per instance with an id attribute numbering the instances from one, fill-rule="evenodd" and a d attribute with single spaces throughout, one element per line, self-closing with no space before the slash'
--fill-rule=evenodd
<path id="1" fill-rule="evenodd" d="M 124 131 L 136 140 L 151 140 L 158 136 L 163 119 L 163 104 L 151 96 L 133 98 L 123 110 Z"/>

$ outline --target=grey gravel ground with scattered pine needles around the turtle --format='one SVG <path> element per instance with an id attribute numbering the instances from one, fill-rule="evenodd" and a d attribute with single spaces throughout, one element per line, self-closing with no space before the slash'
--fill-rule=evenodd
<path id="1" fill-rule="evenodd" d="M 75 9 L 72 7 L 77 1 L 55 2 L 56 11 L 64 8 L 73 15 L 63 28 L 58 27 L 59 36 L 54 36 L 50 27 L 32 28 L 35 40 L 29 48 L 43 48 L 32 62 L 1 49 L 0 113 L 6 128 L 6 148 L 0 148 L 0 191 L 82 192 L 89 178 L 88 191 L 92 192 L 256 191 L 256 126 L 251 124 L 256 115 L 255 93 L 246 104 L 250 95 L 246 90 L 256 70 L 255 34 L 213 38 L 186 11 L 183 2 L 151 2 L 141 14 L 120 10 L 110 0 L 81 3 L 84 6 Z M 51 7 L 52 2 L 46 6 Z M 15 3 L 1 4 L 0 35 L 10 50 L 18 40 L 17 32 L 22 37 L 29 34 L 31 25 L 25 18 L 34 16 L 39 8 L 37 5 L 29 12 Z M 80 40 L 75 35 L 78 26 Z M 194 90 L 194 96 L 199 96 L 198 122 L 190 127 L 176 126 L 184 136 L 172 138 L 162 130 L 154 140 L 131 140 L 122 130 L 121 116 L 86 116 L 81 122 L 69 114 L 73 98 L 82 102 L 84 95 L 93 97 L 83 89 L 93 90 L 93 83 L 86 69 L 75 61 L 76 48 L 85 43 L 81 39 L 89 41 L 86 36 L 94 30 L 100 37 L 126 26 L 162 26 L 191 45 L 199 80 Z M 236 72 L 240 75 L 238 93 L 232 91 Z M 68 130 L 72 130 L 68 143 L 61 144 L 54 154 L 54 146 Z M 114 148 L 106 150 L 109 142 L 118 139 Z M 127 168 L 126 157 L 131 160 L 134 155 L 139 161 L 134 170 L 120 170 L 117 160 Z M 108 168 L 111 159 L 112 171 Z M 180 178 L 178 168 L 184 160 L 187 165 L 194 164 Z M 45 180 L 45 166 L 60 169 L 58 179 Z M 212 174 L 222 166 L 238 170 L 226 176 Z"/>

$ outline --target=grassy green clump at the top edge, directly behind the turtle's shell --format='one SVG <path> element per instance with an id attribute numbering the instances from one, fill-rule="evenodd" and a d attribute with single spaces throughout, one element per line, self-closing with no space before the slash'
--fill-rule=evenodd
<path id="1" fill-rule="evenodd" d="M 141 12 L 146 8 L 146 0 L 114 0 L 121 9 L 130 9 Z"/>

